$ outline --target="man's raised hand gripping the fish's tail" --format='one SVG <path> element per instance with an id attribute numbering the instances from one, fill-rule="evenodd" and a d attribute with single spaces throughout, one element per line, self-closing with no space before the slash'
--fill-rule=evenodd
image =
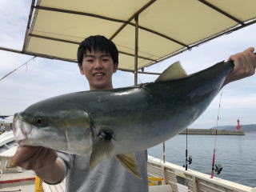
<path id="1" fill-rule="evenodd" d="M 256 55 L 253 47 L 244 50 L 242 53 L 231 55 L 229 61 L 234 62 L 234 70 L 226 77 L 224 85 L 255 74 Z"/>

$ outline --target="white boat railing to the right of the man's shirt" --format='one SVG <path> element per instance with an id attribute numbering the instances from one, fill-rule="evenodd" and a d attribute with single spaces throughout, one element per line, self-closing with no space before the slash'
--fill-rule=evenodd
<path id="1" fill-rule="evenodd" d="M 170 162 L 162 162 L 158 158 L 148 157 L 148 176 L 163 178 L 164 184 L 169 184 L 174 192 L 178 191 L 207 191 L 207 192 L 256 192 L 256 188 L 243 186 L 222 178 L 210 178 L 195 170 L 185 170 Z M 183 186 L 183 189 L 182 187 Z"/>

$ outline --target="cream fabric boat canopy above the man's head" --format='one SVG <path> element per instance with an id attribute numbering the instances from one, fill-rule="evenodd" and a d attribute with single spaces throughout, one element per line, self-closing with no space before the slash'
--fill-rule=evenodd
<path id="1" fill-rule="evenodd" d="M 79 42 L 100 34 L 118 46 L 118 69 L 134 72 L 254 24 L 255 7 L 254 0 L 32 0 L 22 52 L 76 62 Z"/>

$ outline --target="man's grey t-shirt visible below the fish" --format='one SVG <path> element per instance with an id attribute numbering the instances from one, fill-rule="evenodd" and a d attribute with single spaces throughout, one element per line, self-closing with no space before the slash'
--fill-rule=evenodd
<path id="1" fill-rule="evenodd" d="M 140 151 L 135 157 L 142 179 L 130 174 L 115 158 L 106 159 L 90 170 L 90 156 L 58 152 L 65 166 L 66 192 L 148 192 L 147 151 Z"/>

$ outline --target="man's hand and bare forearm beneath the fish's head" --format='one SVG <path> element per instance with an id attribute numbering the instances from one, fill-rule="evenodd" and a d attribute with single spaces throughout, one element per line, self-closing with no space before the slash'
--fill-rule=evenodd
<path id="1" fill-rule="evenodd" d="M 65 168 L 57 157 L 56 151 L 42 146 L 19 146 L 13 161 L 16 166 L 34 170 L 43 181 L 54 184 L 65 174 Z"/>

